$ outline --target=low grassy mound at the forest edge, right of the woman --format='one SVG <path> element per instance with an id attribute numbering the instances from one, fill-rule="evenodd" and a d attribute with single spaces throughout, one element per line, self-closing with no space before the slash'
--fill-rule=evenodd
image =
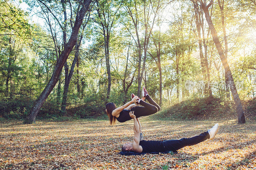
<path id="1" fill-rule="evenodd" d="M 256 119 L 256 98 L 242 102 L 247 119 Z M 232 101 L 223 101 L 218 98 L 193 99 L 182 101 L 170 107 L 165 107 L 152 118 L 162 119 L 236 119 L 236 107 Z"/>

